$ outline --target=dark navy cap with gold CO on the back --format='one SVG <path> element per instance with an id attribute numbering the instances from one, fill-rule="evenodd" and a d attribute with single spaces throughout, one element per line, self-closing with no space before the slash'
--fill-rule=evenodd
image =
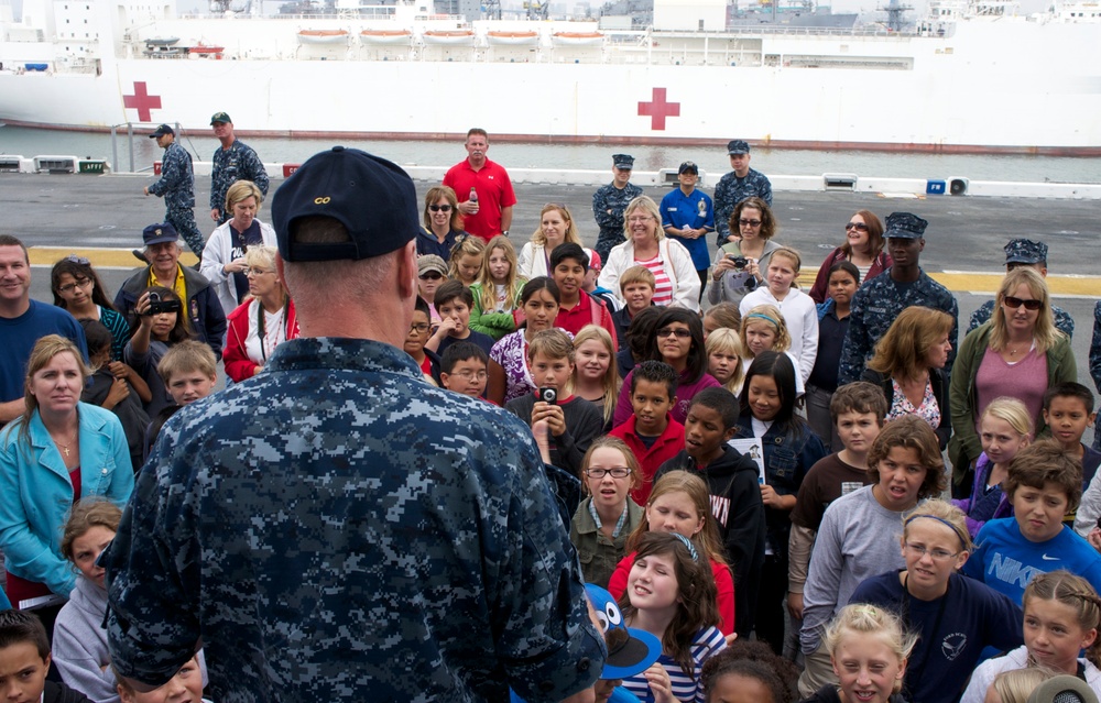
<path id="1" fill-rule="evenodd" d="M 327 217 L 351 241 L 295 242 L 295 221 Z M 421 227 L 413 179 L 396 164 L 358 149 L 314 154 L 272 197 L 272 224 L 283 261 L 370 259 L 401 249 Z"/>

